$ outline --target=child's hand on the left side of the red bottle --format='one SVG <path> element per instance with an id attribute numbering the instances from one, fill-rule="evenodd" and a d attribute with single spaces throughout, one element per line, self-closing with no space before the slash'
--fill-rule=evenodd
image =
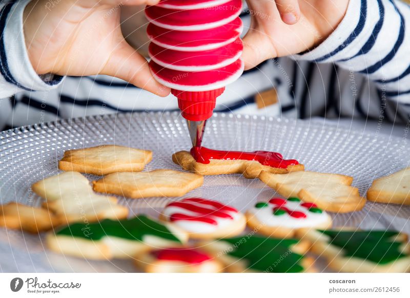
<path id="1" fill-rule="evenodd" d="M 152 77 L 148 63 L 124 39 L 120 9 L 159 0 L 39 0 L 24 12 L 24 35 L 38 74 L 115 76 L 160 96 L 170 89 Z M 124 8 L 127 9 L 127 8 Z"/>

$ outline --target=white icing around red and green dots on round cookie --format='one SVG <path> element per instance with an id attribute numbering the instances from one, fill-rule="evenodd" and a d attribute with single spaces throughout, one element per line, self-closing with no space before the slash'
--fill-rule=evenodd
<path id="1" fill-rule="evenodd" d="M 286 201 L 284 207 L 291 211 L 303 212 L 306 215 L 305 218 L 292 217 L 288 212 L 283 215 L 274 215 L 273 208 L 278 205 L 267 203 L 269 204 L 267 207 L 253 207 L 249 210 L 260 223 L 267 226 L 289 228 L 315 227 L 329 220 L 329 216 L 325 211 L 322 210 L 322 213 L 311 212 L 308 208 L 300 206 L 303 202 Z"/>

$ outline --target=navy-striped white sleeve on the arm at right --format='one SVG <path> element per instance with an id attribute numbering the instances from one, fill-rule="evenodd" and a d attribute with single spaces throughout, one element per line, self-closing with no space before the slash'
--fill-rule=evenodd
<path id="1" fill-rule="evenodd" d="M 336 30 L 298 60 L 333 62 L 361 73 L 387 98 L 410 103 L 410 6 L 399 0 L 351 0 Z"/>

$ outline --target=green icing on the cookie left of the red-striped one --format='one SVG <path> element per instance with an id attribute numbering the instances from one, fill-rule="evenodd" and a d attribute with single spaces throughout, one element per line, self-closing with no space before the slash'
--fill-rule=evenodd
<path id="1" fill-rule="evenodd" d="M 131 219 L 111 220 L 105 219 L 95 223 L 73 223 L 58 232 L 56 235 L 66 235 L 88 240 L 101 240 L 105 236 L 115 236 L 128 240 L 142 241 L 146 235 L 181 242 L 163 224 L 139 215 Z"/>

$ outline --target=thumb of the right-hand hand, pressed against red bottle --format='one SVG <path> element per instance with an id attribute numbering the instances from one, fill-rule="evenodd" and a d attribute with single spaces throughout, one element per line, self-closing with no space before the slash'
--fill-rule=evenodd
<path id="1" fill-rule="evenodd" d="M 276 57 L 276 51 L 269 38 L 257 29 L 250 29 L 242 41 L 242 59 L 245 63 L 245 70 L 254 68 L 264 60 Z"/>

